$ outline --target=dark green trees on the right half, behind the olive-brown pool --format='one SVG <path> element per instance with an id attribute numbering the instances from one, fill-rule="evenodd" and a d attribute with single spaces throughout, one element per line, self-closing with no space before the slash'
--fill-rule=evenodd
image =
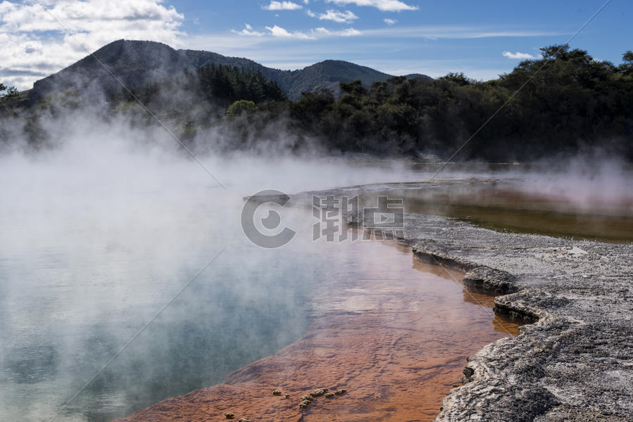
<path id="1" fill-rule="evenodd" d="M 459 158 L 529 160 L 601 148 L 632 159 L 633 53 L 615 66 L 567 45 L 541 51 L 543 58 L 489 82 L 449 74 L 391 77 L 370 89 L 341 83 L 339 99 L 304 93 L 287 109 L 292 127 L 338 151 L 448 157 L 476 134 Z"/>

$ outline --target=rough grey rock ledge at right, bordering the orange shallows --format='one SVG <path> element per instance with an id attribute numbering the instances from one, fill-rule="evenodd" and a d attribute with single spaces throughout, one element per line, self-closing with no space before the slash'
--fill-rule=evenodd
<path id="1" fill-rule="evenodd" d="M 633 245 L 425 215 L 405 216 L 404 238 L 532 322 L 468 358 L 436 421 L 633 421 Z"/>

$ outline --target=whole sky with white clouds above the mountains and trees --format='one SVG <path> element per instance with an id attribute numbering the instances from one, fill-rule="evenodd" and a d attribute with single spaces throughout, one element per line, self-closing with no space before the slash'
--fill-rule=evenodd
<path id="1" fill-rule="evenodd" d="M 29 89 L 117 39 L 161 41 L 280 69 L 348 60 L 391 75 L 510 72 L 563 44 L 606 0 L 29 0 L 0 2 L 0 82 Z M 633 50 L 633 2 L 611 0 L 570 41 Z"/>

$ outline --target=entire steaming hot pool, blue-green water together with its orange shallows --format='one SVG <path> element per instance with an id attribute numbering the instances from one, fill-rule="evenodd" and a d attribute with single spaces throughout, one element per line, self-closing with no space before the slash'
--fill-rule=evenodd
<path id="1" fill-rule="evenodd" d="M 516 332 L 460 274 L 395 243 L 313 242 L 306 210 L 284 210 L 298 234 L 275 250 L 239 225 L 242 198 L 270 187 L 381 182 L 375 193 L 427 212 L 419 188 L 429 172 L 292 160 L 271 177 L 267 162 L 208 164 L 222 190 L 192 162 L 144 150 L 77 154 L 0 167 L 0 421 L 111 421 L 201 388 L 211 389 L 161 406 L 192 420 L 293 420 L 295 396 L 320 387 L 349 392 L 311 405 L 319 420 L 426 421 L 466 357 Z M 489 186 L 485 171 L 472 183 L 443 177 L 462 193 Z M 414 184 L 404 192 L 385 180 Z M 273 388 L 292 398 L 280 402 Z"/>

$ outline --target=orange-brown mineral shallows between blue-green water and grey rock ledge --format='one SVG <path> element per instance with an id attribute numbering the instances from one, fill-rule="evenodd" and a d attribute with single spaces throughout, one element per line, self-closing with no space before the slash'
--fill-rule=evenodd
<path id="1" fill-rule="evenodd" d="M 315 288 L 313 324 L 301 339 L 223 384 L 123 420 L 221 421 L 230 412 L 253 422 L 432 421 L 466 358 L 517 324 L 491 314 L 491 297 L 465 293 L 460 271 L 412 262 L 410 248 L 350 247 L 375 255 Z"/>

